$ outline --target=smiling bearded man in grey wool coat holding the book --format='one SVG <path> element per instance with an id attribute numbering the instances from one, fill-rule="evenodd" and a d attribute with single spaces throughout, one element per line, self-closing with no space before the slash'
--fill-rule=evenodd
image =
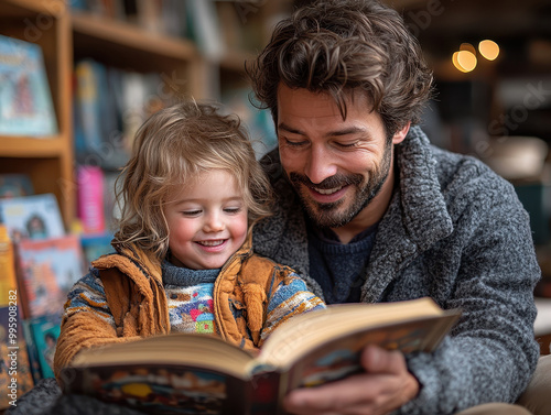
<path id="1" fill-rule="evenodd" d="M 432 76 L 399 14 L 368 0 L 304 7 L 248 74 L 279 142 L 263 159 L 279 200 L 256 250 L 328 304 L 431 296 L 463 309 L 435 353 L 368 347 L 365 373 L 292 392 L 287 409 L 528 414 L 509 403 L 539 357 L 529 218 L 510 184 L 414 125 Z"/>

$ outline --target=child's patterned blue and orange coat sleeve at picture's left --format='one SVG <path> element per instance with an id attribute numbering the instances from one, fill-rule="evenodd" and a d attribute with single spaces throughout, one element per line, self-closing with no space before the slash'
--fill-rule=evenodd
<path id="1" fill-rule="evenodd" d="M 61 370 L 83 349 L 139 338 L 117 337 L 101 280 L 93 269 L 68 293 L 54 357 L 55 376 L 63 382 Z"/>

